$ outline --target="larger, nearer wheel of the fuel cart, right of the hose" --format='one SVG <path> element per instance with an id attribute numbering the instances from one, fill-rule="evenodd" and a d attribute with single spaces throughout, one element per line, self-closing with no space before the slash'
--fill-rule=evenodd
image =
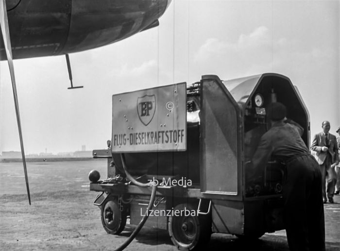
<path id="1" fill-rule="evenodd" d="M 179 216 L 170 216 L 168 220 L 168 231 L 171 241 L 179 250 L 202 249 L 210 240 L 211 219 L 210 216 L 197 215 L 197 208 L 191 204 L 178 204 L 173 209 L 180 212 Z M 188 210 L 192 214 L 185 214 Z"/>

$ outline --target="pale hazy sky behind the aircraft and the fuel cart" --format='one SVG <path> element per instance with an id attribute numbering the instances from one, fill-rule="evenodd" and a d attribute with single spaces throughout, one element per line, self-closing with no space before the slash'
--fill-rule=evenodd
<path id="1" fill-rule="evenodd" d="M 340 1 L 172 0 L 160 25 L 118 43 L 65 56 L 16 60 L 26 154 L 106 147 L 112 94 L 266 72 L 296 85 L 310 113 L 340 126 Z M 7 63 L 0 63 L 0 152 L 20 151 Z"/>

